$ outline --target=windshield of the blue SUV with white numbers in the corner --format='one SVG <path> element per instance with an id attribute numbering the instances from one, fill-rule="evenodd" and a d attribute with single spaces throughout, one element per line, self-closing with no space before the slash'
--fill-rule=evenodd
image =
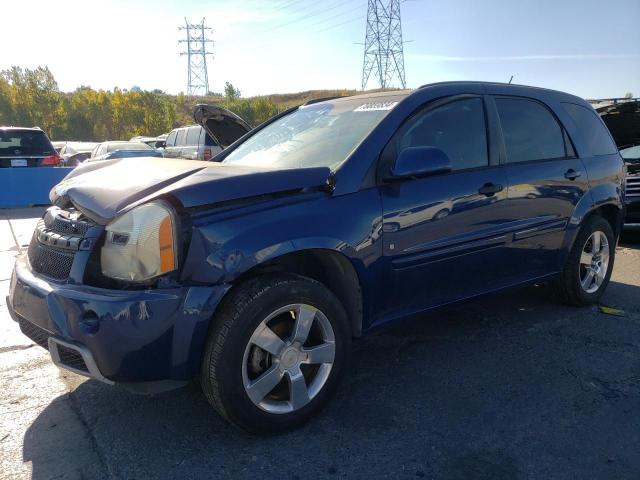
<path id="1" fill-rule="evenodd" d="M 361 98 L 302 106 L 248 138 L 224 163 L 335 169 L 396 103 Z"/>

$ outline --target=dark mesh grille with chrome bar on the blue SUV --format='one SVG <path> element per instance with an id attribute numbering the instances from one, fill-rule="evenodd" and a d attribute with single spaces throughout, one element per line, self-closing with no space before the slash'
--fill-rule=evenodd
<path id="1" fill-rule="evenodd" d="M 51 207 L 38 222 L 29 244 L 31 268 L 55 280 L 69 278 L 75 253 L 92 225 L 76 212 Z"/>

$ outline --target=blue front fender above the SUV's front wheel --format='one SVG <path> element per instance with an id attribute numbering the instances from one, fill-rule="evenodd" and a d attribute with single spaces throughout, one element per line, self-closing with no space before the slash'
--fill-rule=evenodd
<path id="1" fill-rule="evenodd" d="M 351 218 L 350 211 L 358 216 Z M 181 281 L 195 285 L 232 283 L 282 255 L 323 249 L 350 261 L 361 279 L 364 296 L 373 276 L 369 267 L 382 256 L 381 222 L 376 189 L 336 196 L 315 193 L 241 210 L 212 209 L 194 214 Z"/>

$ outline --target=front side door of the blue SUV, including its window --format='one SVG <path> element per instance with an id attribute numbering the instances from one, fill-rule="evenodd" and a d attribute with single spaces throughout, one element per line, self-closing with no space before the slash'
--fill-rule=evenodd
<path id="1" fill-rule="evenodd" d="M 394 314 L 462 299 L 500 287 L 508 223 L 506 175 L 489 149 L 483 97 L 463 95 L 432 103 L 405 122 L 383 153 L 431 146 L 453 171 L 380 187 L 385 275 Z M 383 161 L 384 164 L 384 161 Z"/>

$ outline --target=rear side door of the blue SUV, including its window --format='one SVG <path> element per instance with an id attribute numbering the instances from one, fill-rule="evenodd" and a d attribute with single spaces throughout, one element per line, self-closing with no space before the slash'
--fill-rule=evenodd
<path id="1" fill-rule="evenodd" d="M 509 214 L 519 222 L 508 274 L 528 279 L 560 269 L 565 230 L 587 189 L 587 174 L 553 111 L 541 101 L 493 97 L 509 182 Z"/>

